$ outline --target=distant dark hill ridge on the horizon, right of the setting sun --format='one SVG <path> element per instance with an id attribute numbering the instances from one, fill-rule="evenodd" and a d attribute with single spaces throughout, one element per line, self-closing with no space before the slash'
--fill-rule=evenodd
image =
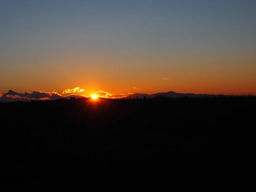
<path id="1" fill-rule="evenodd" d="M 143 99 L 143 98 L 212 98 L 212 97 L 224 97 L 226 95 L 218 94 L 218 95 L 209 95 L 209 94 L 193 94 L 193 93 L 176 93 L 173 91 L 169 92 L 162 92 L 162 93 L 155 93 L 155 94 L 143 94 L 143 93 L 136 93 L 130 95 L 124 99 Z"/>

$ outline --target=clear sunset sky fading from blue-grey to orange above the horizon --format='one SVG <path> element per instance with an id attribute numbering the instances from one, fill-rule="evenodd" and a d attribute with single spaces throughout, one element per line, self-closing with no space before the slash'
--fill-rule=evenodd
<path id="1" fill-rule="evenodd" d="M 0 0 L 0 93 L 256 94 L 255 0 Z"/>

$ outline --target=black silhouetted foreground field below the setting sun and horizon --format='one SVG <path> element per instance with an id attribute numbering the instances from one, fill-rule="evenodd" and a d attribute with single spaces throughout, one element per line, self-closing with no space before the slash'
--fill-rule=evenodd
<path id="1" fill-rule="evenodd" d="M 1 184 L 243 188 L 255 109 L 254 97 L 0 103 Z"/>

